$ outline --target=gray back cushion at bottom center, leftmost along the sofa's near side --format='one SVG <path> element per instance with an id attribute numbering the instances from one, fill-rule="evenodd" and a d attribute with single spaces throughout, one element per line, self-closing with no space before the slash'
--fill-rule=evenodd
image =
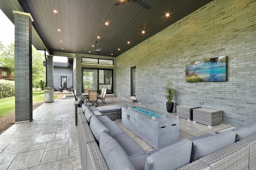
<path id="1" fill-rule="evenodd" d="M 192 141 L 184 139 L 148 156 L 145 170 L 175 170 L 190 162 Z"/>

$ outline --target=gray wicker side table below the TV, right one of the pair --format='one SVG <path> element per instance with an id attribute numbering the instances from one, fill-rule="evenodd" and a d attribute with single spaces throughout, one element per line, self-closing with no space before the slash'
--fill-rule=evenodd
<path id="1" fill-rule="evenodd" d="M 198 108 L 193 109 L 193 121 L 212 127 L 222 123 L 222 110 Z"/>

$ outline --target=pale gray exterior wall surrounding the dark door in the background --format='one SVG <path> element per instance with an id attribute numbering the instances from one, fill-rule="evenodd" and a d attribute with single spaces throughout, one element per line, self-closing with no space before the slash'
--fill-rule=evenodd
<path id="1" fill-rule="evenodd" d="M 58 87 L 62 86 L 61 77 L 66 77 L 66 86 L 70 88 L 73 86 L 73 68 L 67 67 L 56 67 L 53 68 L 53 84 L 54 87 L 58 89 Z M 66 89 L 64 89 L 66 90 Z"/>

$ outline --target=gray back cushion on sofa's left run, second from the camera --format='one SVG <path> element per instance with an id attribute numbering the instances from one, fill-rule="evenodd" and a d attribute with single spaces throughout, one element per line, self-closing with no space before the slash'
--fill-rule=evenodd
<path id="1" fill-rule="evenodd" d="M 101 121 L 97 118 L 96 115 L 92 115 L 91 122 L 90 122 L 90 129 L 98 143 L 100 141 L 100 133 L 102 132 L 109 133 L 108 128 L 106 128 L 106 126 L 104 126 L 101 123 Z"/>

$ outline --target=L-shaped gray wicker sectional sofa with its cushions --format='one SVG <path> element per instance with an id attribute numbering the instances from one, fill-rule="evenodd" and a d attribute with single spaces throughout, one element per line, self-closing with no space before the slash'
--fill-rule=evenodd
<path id="1" fill-rule="evenodd" d="M 256 123 L 216 135 L 184 139 L 146 153 L 107 116 L 78 108 L 82 169 L 255 169 Z"/>

